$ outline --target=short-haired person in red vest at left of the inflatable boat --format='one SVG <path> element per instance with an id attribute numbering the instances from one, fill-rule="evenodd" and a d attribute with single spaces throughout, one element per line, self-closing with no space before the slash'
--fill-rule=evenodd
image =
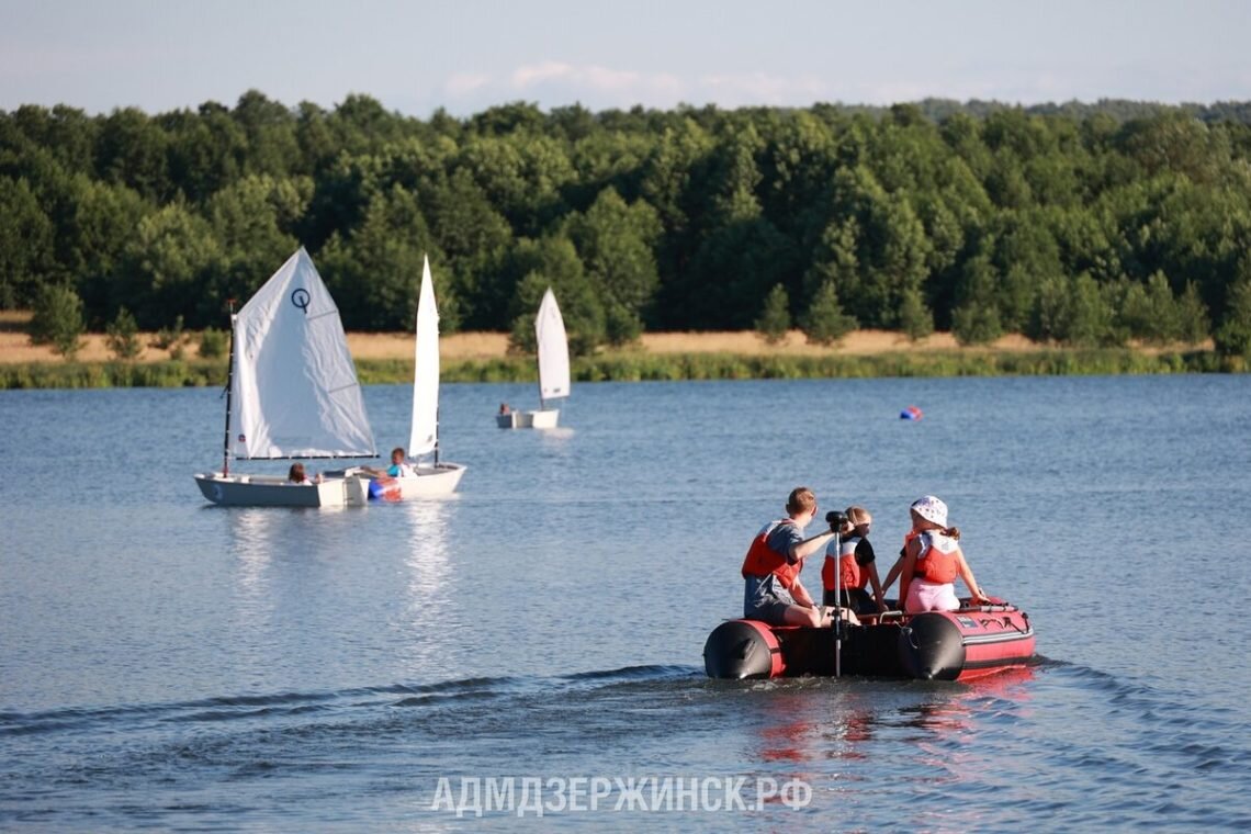
<path id="1" fill-rule="evenodd" d="M 803 529 L 817 516 L 817 496 L 807 486 L 797 486 L 787 498 L 786 518 L 769 521 L 752 539 L 743 559 L 743 616 L 769 625 L 807 625 L 827 628 L 832 614 L 858 624 L 856 614 L 846 608 L 817 605 L 799 581 L 803 560 L 819 553 L 839 533 L 851 533 L 843 519 L 842 528 L 803 538 Z"/>

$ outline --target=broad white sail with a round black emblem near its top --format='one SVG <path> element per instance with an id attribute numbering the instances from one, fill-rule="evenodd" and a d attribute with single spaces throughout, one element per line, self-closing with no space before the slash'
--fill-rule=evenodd
<path id="1" fill-rule="evenodd" d="M 339 309 L 303 248 L 234 318 L 235 458 L 377 454 Z"/>

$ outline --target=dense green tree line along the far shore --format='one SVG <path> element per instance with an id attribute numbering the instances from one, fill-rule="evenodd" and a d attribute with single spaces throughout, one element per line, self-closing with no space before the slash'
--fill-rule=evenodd
<path id="1" fill-rule="evenodd" d="M 350 330 L 854 328 L 1251 351 L 1251 105 L 0 111 L 0 309 L 224 328 L 305 246 Z"/>

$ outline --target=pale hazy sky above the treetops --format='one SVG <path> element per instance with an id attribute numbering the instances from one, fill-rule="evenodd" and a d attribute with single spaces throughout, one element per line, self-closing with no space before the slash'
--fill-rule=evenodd
<path id="1" fill-rule="evenodd" d="M 0 0 L 0 110 L 1251 100 L 1251 0 Z"/>

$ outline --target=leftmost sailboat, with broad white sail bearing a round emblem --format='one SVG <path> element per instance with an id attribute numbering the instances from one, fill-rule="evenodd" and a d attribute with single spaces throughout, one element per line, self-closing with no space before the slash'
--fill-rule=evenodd
<path id="1" fill-rule="evenodd" d="M 204 498 L 238 506 L 363 504 L 365 479 L 230 471 L 234 460 L 377 458 L 339 309 L 301 246 L 230 316 L 221 471 L 196 474 Z"/>

